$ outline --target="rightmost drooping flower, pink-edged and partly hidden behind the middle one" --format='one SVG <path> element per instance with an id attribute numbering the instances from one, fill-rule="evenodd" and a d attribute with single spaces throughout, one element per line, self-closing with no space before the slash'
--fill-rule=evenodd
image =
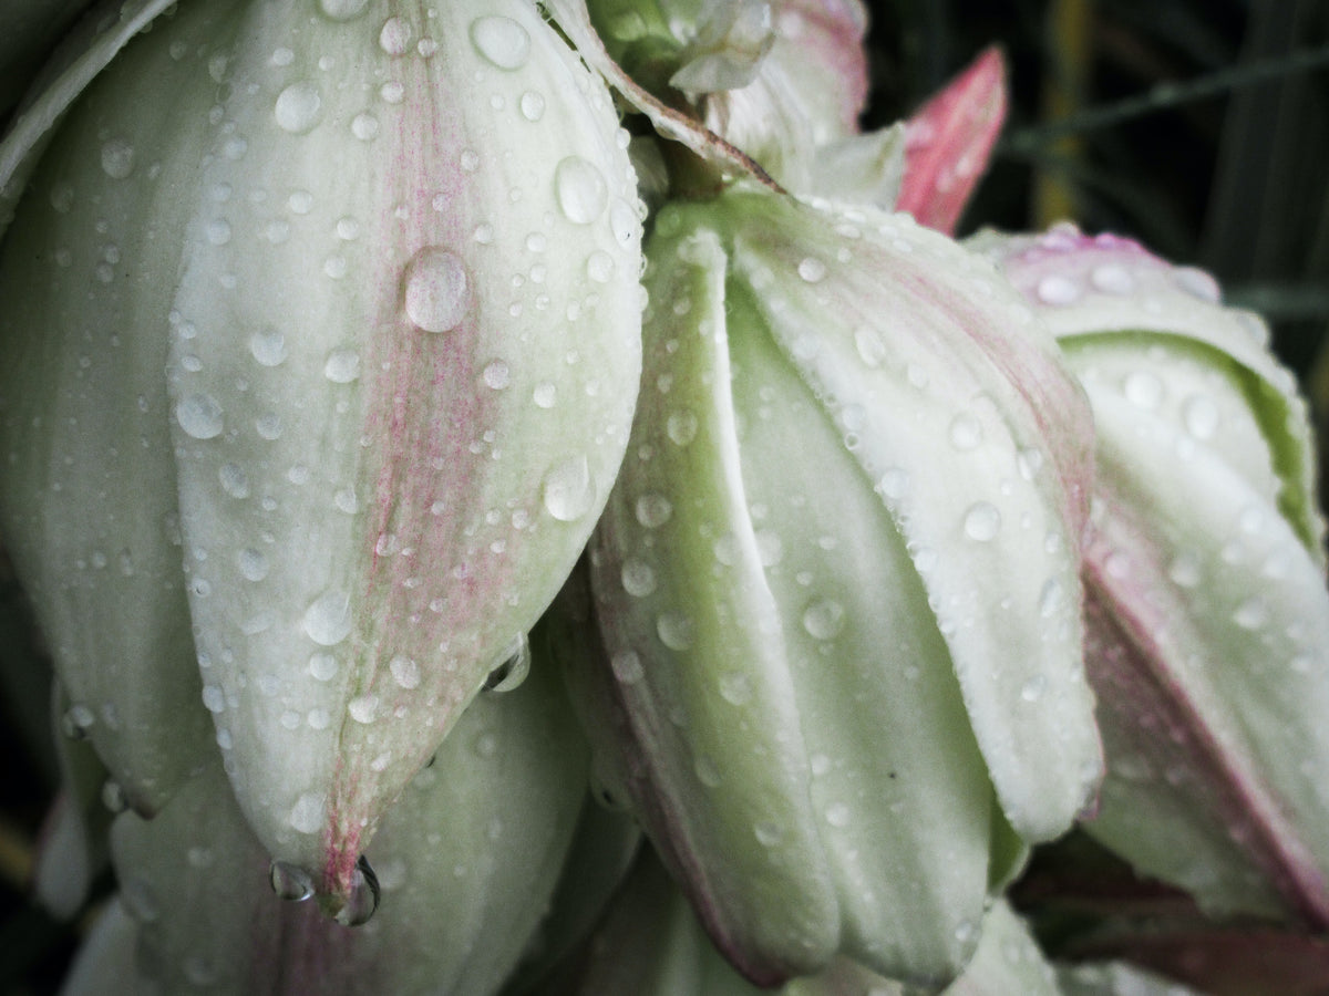
<path id="1" fill-rule="evenodd" d="M 982 235 L 1094 405 L 1108 774 L 1084 829 L 1213 914 L 1329 923 L 1329 591 L 1306 409 L 1255 315 L 1135 243 Z"/>

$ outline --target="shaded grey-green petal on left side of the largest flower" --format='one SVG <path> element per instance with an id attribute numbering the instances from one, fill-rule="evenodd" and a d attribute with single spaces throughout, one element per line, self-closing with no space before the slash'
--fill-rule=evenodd
<path id="1" fill-rule="evenodd" d="M 166 313 L 178 189 L 205 145 L 206 42 L 237 4 L 159 27 L 70 113 L 0 255 L 0 515 L 68 691 L 129 802 L 152 813 L 213 750 L 181 572 Z M 170 94 L 166 100 L 163 94 Z M 173 135 L 171 155 L 158 135 Z M 163 278 L 167 274 L 171 278 Z"/>

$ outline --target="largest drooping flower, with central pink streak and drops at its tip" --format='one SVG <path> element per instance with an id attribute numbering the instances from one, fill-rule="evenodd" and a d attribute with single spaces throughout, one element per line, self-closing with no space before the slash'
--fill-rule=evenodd
<path id="1" fill-rule="evenodd" d="M 347 900 L 621 462 L 625 145 L 524 0 L 183 5 L 68 112 L 0 259 L 0 509 L 144 811 L 201 697 L 259 839 Z"/>

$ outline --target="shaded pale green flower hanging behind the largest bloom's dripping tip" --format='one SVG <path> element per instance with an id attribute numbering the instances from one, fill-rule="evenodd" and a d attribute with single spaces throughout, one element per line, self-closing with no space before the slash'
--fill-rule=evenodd
<path id="1" fill-rule="evenodd" d="M 360 866 L 358 900 L 383 898 L 371 922 L 348 930 L 315 903 L 274 899 L 274 888 L 307 899 L 312 883 L 270 869 L 217 764 L 155 818 L 117 819 L 129 923 L 112 912 L 112 936 L 84 957 L 121 975 L 76 968 L 65 992 L 101 993 L 108 977 L 162 993 L 497 992 L 554 892 L 586 798 L 585 741 L 542 663 L 520 689 L 468 709 L 384 817 Z"/>

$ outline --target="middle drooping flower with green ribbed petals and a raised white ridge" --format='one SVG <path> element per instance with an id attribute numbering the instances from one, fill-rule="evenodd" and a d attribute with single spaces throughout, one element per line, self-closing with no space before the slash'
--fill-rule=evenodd
<path id="1" fill-rule="evenodd" d="M 906 215 L 735 191 L 667 207 L 649 258 L 602 645 L 563 655 L 597 777 L 750 979 L 949 979 L 1099 773 L 1087 405 Z"/>

